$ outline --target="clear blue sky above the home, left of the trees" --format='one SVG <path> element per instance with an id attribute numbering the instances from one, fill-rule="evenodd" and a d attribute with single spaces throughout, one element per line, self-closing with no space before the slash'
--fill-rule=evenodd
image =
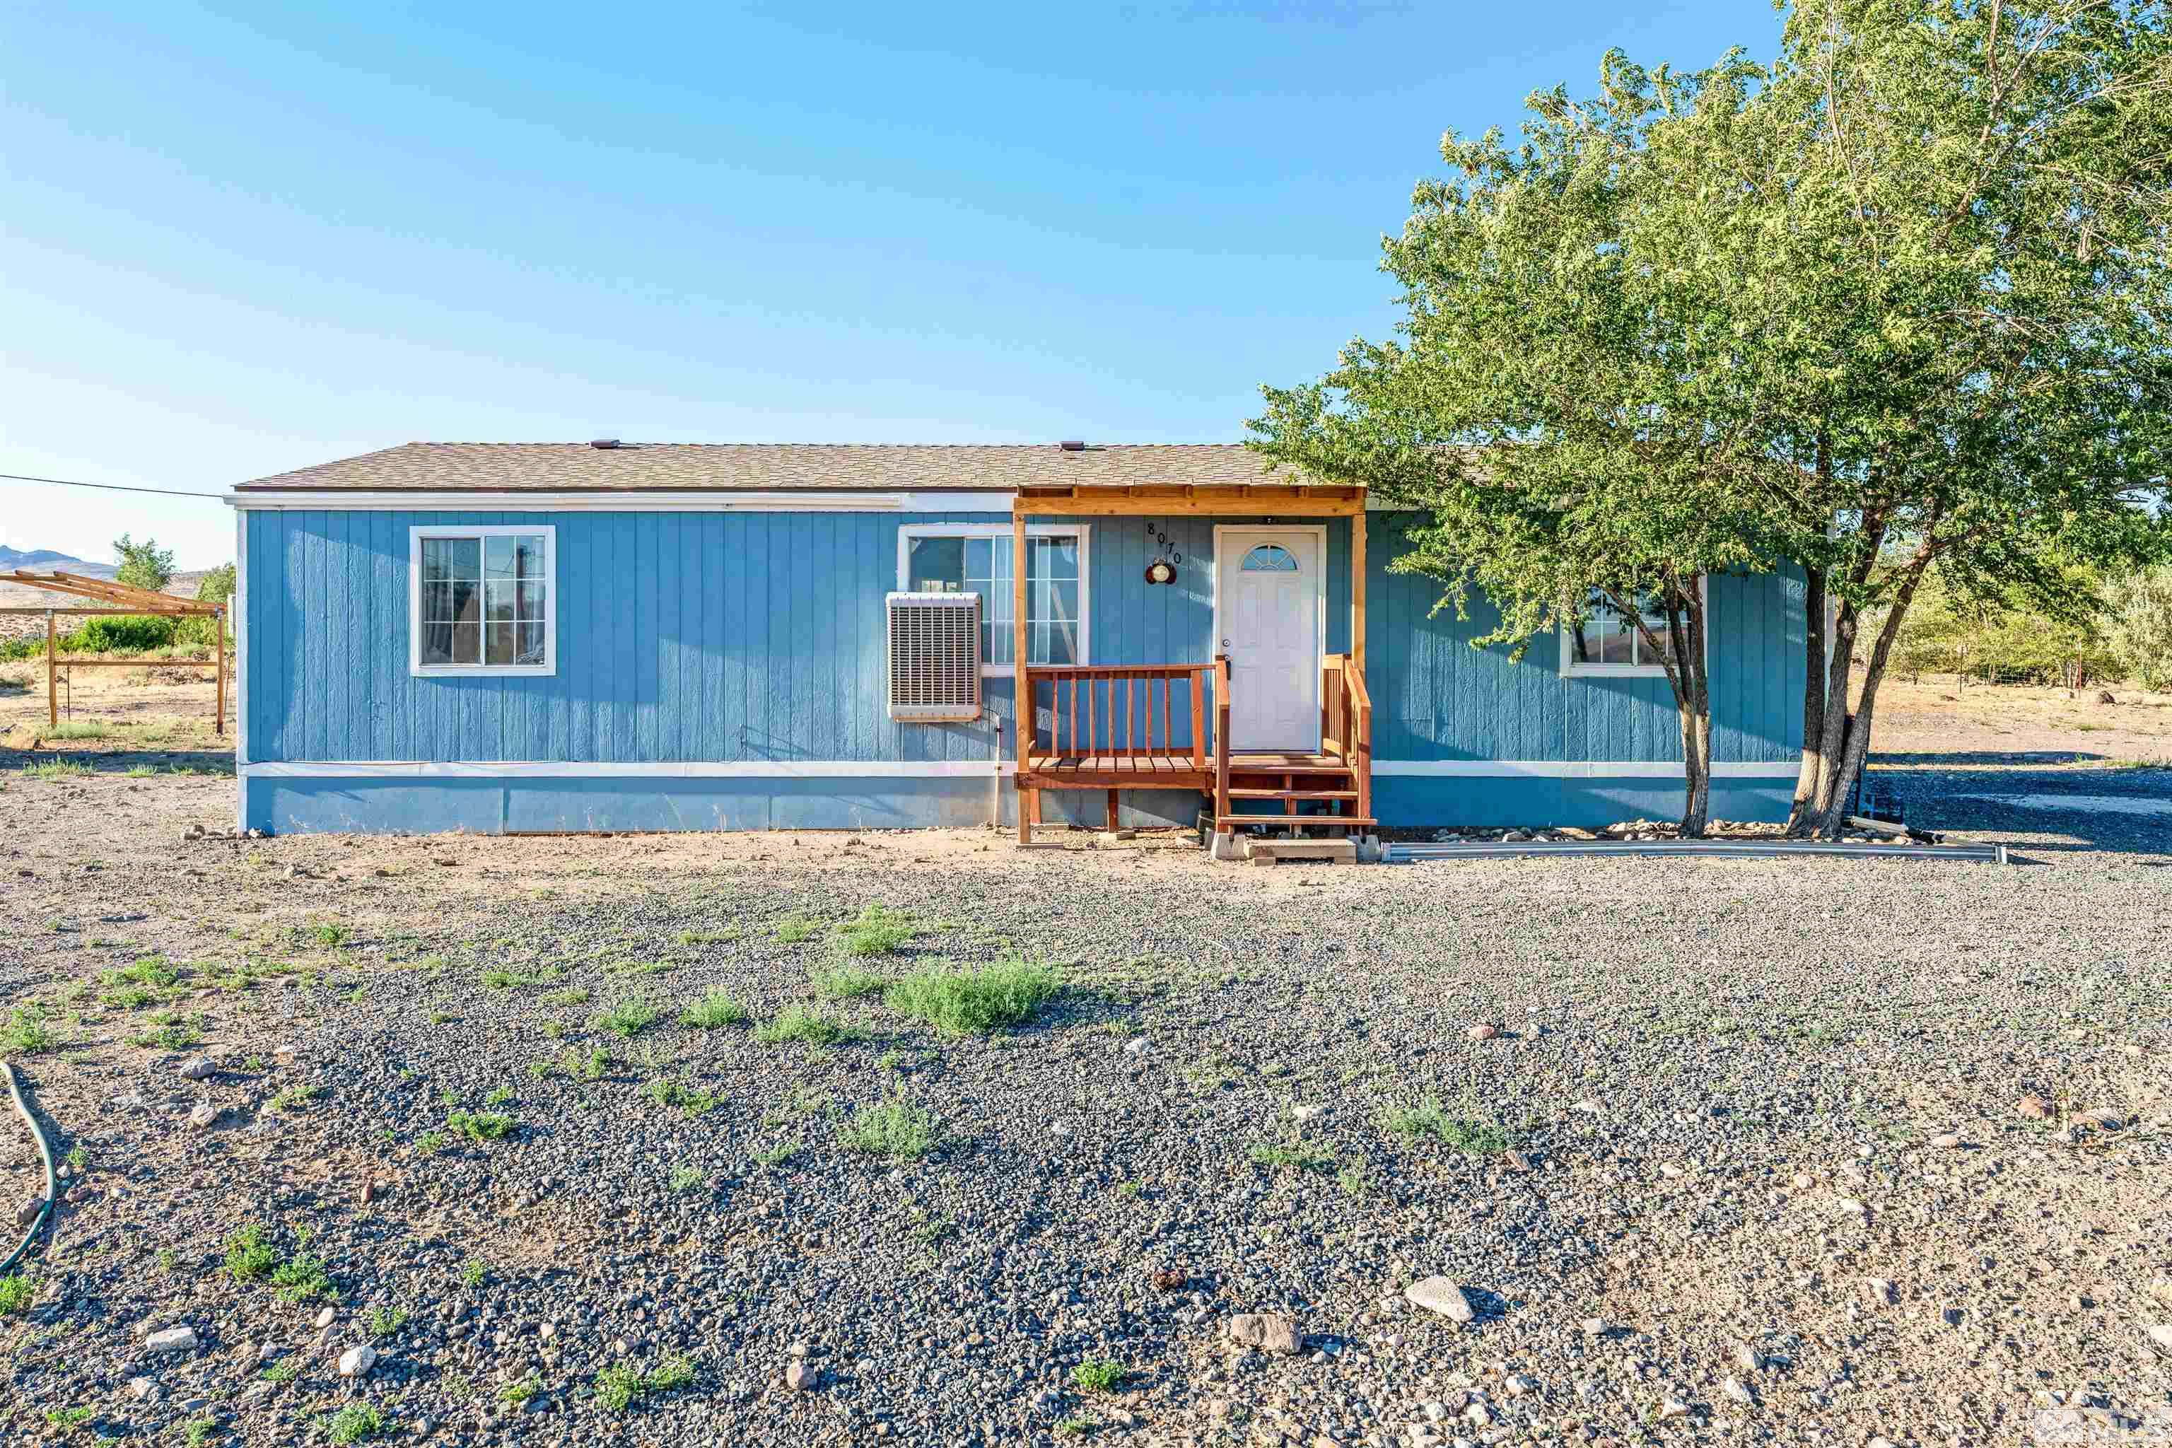
<path id="1" fill-rule="evenodd" d="M 1444 128 L 1761 4 L 0 11 L 0 471 L 430 441 L 1234 441 L 1392 323 Z M 182 564 L 219 504 L 0 482 Z"/>

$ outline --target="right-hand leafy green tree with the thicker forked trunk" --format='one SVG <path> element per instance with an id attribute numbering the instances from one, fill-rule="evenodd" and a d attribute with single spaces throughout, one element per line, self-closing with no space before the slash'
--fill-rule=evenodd
<path id="1" fill-rule="evenodd" d="M 1803 0 L 1727 215 L 1653 254 L 1714 319 L 1707 417 L 1792 465 L 1768 536 L 1831 608 L 1796 834 L 1842 829 L 1933 567 L 1961 612 L 2081 630 L 2094 569 L 2161 547 L 2168 63 L 2161 4 Z"/>

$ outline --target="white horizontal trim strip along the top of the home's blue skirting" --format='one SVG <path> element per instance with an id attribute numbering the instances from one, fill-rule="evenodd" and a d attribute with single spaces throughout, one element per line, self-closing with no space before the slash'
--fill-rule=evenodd
<path id="1" fill-rule="evenodd" d="M 241 764 L 243 779 L 990 779 L 1014 760 L 291 760 Z M 1375 760 L 1375 777 L 1403 779 L 1681 779 L 1681 764 L 1640 760 Z M 1714 764 L 1714 779 L 1783 779 L 1792 762 Z"/>

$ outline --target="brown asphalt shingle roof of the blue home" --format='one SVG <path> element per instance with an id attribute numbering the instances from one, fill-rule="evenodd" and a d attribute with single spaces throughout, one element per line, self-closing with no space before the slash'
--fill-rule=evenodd
<path id="1" fill-rule="evenodd" d="M 888 443 L 404 443 L 256 478 L 241 491 L 702 491 L 1040 488 L 1295 484 L 1292 469 L 1236 443 L 1038 445 Z"/>

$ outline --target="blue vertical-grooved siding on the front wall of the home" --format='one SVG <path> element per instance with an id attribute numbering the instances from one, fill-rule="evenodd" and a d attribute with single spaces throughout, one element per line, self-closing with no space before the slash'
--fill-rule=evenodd
<path id="1" fill-rule="evenodd" d="M 408 530 L 493 523 L 556 528 L 556 673 L 413 677 Z M 1008 779 L 995 784 L 997 762 L 1014 753 L 1008 679 L 984 682 L 988 710 L 973 723 L 888 716 L 884 593 L 897 586 L 897 530 L 910 523 L 1008 523 L 1008 512 L 248 510 L 243 818 L 278 831 L 500 831 L 1010 816 L 1014 792 Z M 1184 562 L 1175 584 L 1149 586 L 1142 571 L 1160 554 L 1149 521 L 1090 519 L 1093 662 L 1212 658 L 1214 523 L 1153 521 Z M 1368 523 L 1384 821 L 1586 823 L 1573 816 L 1672 808 L 1679 775 L 1670 786 L 1664 775 L 1397 773 L 1666 762 L 1679 760 L 1679 740 L 1664 679 L 1564 679 L 1551 640 L 1520 662 L 1470 649 L 1486 619 L 1434 614 L 1431 584 L 1386 571 L 1392 519 Z M 1349 521 L 1327 528 L 1327 649 L 1342 651 Z M 1735 775 L 1775 764 L 1772 779 L 1722 777 L 1716 812 L 1729 814 L 1729 792 L 1770 792 L 1772 782 L 1783 805 L 1801 732 L 1798 588 L 1720 577 L 1712 610 L 1716 758 Z M 304 773 L 317 764 L 356 769 Z M 397 764 L 473 769 L 380 769 Z M 569 764 L 599 769 L 521 769 Z M 1099 818 L 1097 801 L 1049 797 L 1051 818 L 1066 799 Z M 1195 805 L 1184 795 L 1127 797 L 1140 821 L 1188 823 Z M 1733 810 L 1759 812 L 1770 810 Z"/>

